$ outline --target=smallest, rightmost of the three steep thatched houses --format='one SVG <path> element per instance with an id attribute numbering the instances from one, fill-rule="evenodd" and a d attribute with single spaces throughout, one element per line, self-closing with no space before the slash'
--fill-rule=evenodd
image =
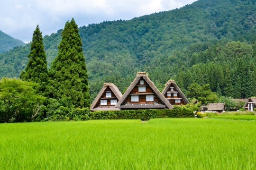
<path id="1" fill-rule="evenodd" d="M 189 101 L 174 80 L 169 80 L 162 92 L 165 99 L 172 105 L 188 104 Z"/>

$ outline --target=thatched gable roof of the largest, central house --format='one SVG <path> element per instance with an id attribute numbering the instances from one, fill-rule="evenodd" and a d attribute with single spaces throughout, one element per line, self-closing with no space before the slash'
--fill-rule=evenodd
<path id="1" fill-rule="evenodd" d="M 136 78 L 133 80 L 133 82 L 131 83 L 131 85 L 128 87 L 128 89 L 126 90 L 126 92 L 123 94 L 123 96 L 121 97 L 121 99 L 119 100 L 119 102 L 116 105 L 116 108 L 119 108 L 121 106 L 121 104 L 126 100 L 126 98 L 128 97 L 128 95 L 132 92 L 132 90 L 135 88 L 135 86 L 137 85 L 138 81 L 142 78 L 144 78 L 144 80 L 146 81 L 146 83 L 151 87 L 151 89 L 153 90 L 153 92 L 157 95 L 157 97 L 165 103 L 166 107 L 169 109 L 173 109 L 174 107 L 172 106 L 172 104 L 170 104 L 166 99 L 165 96 L 159 92 L 159 90 L 156 88 L 156 86 L 154 85 L 154 83 L 148 78 L 147 74 L 145 72 L 138 72 Z"/>

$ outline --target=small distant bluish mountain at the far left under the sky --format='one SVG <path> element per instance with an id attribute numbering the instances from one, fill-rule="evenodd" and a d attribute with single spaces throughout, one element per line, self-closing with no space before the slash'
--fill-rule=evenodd
<path id="1" fill-rule="evenodd" d="M 0 53 L 9 51 L 17 46 L 23 46 L 25 44 L 26 43 L 18 39 L 12 38 L 8 34 L 5 34 L 0 30 Z"/>

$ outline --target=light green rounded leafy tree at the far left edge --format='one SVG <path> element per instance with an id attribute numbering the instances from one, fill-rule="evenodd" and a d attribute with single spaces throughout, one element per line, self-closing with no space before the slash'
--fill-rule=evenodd
<path id="1" fill-rule="evenodd" d="M 0 123 L 32 121 L 45 97 L 38 94 L 38 85 L 15 78 L 0 80 Z"/>

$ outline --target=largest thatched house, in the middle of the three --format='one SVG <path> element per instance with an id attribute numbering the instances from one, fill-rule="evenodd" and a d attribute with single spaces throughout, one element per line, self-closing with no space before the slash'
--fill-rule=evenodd
<path id="1" fill-rule="evenodd" d="M 117 103 L 116 108 L 122 110 L 173 109 L 173 106 L 159 92 L 147 74 L 139 72 Z"/>

